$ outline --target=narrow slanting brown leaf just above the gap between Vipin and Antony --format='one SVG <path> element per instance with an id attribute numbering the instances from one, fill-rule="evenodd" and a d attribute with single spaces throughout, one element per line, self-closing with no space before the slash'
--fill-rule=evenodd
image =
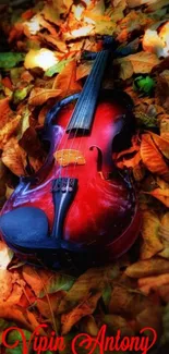
<path id="1" fill-rule="evenodd" d="M 81 318 L 94 313 L 100 296 L 101 293 L 97 292 L 95 295 L 92 295 L 88 300 L 73 308 L 70 313 L 61 316 L 62 335 L 69 333 L 72 327 L 79 322 Z"/>

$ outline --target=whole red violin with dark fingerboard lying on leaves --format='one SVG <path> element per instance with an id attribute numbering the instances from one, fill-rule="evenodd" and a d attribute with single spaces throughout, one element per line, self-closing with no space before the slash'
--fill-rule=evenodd
<path id="1" fill-rule="evenodd" d="M 34 175 L 20 178 L 2 209 L 2 237 L 27 261 L 55 269 L 101 265 L 138 235 L 134 186 L 112 160 L 131 139 L 132 103 L 122 91 L 100 89 L 109 53 L 96 54 L 82 93 L 48 112 L 47 159 Z"/>

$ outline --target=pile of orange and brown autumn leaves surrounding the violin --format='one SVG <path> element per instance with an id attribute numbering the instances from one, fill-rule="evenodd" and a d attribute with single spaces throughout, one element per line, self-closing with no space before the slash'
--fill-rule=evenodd
<path id="1" fill-rule="evenodd" d="M 76 278 L 37 271 L 0 242 L 0 341 L 11 324 L 29 338 L 45 322 L 68 345 L 77 332 L 97 335 L 102 324 L 109 334 L 121 329 L 122 335 L 153 327 L 159 350 L 169 342 L 167 5 L 168 0 L 47 0 L 25 10 L 0 7 L 0 206 L 20 175 L 43 166 L 46 152 L 38 132 L 47 111 L 82 89 L 93 65 L 82 53 L 101 50 L 102 35 L 110 35 L 119 45 L 102 85 L 132 97 L 136 120 L 131 147 L 113 159 L 133 176 L 143 221 L 128 255 Z M 44 51 L 53 59 L 45 69 L 34 62 Z M 11 333 L 9 342 L 15 338 Z"/>

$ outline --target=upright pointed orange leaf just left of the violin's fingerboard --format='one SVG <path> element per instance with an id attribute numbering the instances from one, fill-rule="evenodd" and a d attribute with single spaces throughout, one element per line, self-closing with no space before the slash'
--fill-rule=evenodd
<path id="1" fill-rule="evenodd" d="M 82 86 L 76 82 L 76 62 L 75 60 L 70 61 L 62 72 L 57 76 L 53 89 L 61 90 L 61 97 L 81 91 Z"/>

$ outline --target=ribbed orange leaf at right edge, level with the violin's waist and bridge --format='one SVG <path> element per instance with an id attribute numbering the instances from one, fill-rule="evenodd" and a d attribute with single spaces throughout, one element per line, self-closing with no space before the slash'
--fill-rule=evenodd
<path id="1" fill-rule="evenodd" d="M 169 182 L 169 168 L 152 139 L 150 134 L 142 135 L 141 157 L 150 172 L 161 175 L 165 181 Z"/>

